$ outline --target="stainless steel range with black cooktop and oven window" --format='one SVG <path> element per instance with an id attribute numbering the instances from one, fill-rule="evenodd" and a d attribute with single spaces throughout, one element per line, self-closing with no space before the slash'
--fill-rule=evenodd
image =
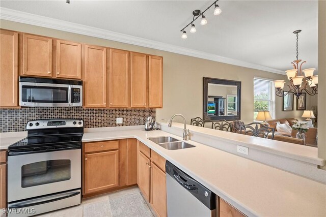
<path id="1" fill-rule="evenodd" d="M 26 130 L 8 147 L 8 216 L 80 204 L 83 120 L 34 120 Z"/>

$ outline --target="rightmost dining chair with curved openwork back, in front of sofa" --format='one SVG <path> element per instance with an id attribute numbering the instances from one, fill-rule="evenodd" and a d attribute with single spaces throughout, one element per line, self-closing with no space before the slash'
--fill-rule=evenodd
<path id="1" fill-rule="evenodd" d="M 269 135 L 269 139 L 274 139 L 275 129 L 262 123 L 252 122 L 248 125 L 241 125 L 240 133 L 261 138 L 267 138 Z"/>

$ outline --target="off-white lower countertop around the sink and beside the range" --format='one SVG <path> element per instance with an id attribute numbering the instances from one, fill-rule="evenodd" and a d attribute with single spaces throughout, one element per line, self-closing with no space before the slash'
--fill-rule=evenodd
<path id="1" fill-rule="evenodd" d="M 249 216 L 326 216 L 326 184 L 191 140 L 187 142 L 196 147 L 167 150 L 147 138 L 166 135 L 182 138 L 140 128 L 90 129 L 86 130 L 83 142 L 137 138 Z M 18 140 L 17 137 L 15 141 Z M 2 137 L 0 148 L 8 141 Z"/>

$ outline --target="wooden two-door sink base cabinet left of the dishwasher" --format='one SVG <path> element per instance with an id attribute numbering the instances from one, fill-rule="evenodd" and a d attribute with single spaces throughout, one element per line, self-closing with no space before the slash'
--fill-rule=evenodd
<path id="1" fill-rule="evenodd" d="M 166 160 L 139 142 L 138 186 L 158 216 L 167 216 Z"/>

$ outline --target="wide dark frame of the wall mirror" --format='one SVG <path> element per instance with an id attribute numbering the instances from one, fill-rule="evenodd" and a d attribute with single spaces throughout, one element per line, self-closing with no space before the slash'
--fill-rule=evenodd
<path id="1" fill-rule="evenodd" d="M 237 86 L 237 115 L 226 115 L 226 116 L 208 116 L 207 115 L 207 103 L 208 103 L 208 83 L 212 84 L 224 84 Z M 213 120 L 240 120 L 241 118 L 241 81 L 232 81 L 217 78 L 204 77 L 204 91 L 203 91 L 203 119 L 206 122 L 211 122 Z"/>

